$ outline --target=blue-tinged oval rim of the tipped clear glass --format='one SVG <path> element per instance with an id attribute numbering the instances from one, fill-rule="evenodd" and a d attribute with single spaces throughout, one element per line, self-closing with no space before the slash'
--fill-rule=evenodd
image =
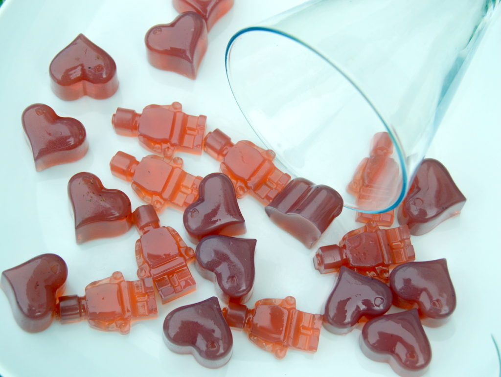
<path id="1" fill-rule="evenodd" d="M 285 33 L 285 32 L 283 32 L 281 30 L 274 29 L 274 28 L 271 28 L 271 27 L 267 27 L 267 26 L 251 26 L 251 27 L 247 27 L 247 28 L 239 30 L 228 41 L 228 44 L 226 45 L 226 51 L 224 53 L 224 68 L 225 68 L 225 72 L 226 72 L 226 79 L 228 80 L 229 88 L 231 90 L 231 94 L 233 95 L 233 98 L 235 99 L 236 104 L 237 104 L 238 108 L 240 109 L 240 112 L 243 114 L 243 116 L 244 116 L 245 120 L 247 121 L 248 125 L 253 129 L 253 131 L 259 137 L 259 139 L 261 140 L 261 142 L 265 146 L 267 146 L 267 147 L 269 147 L 269 148 L 271 148 L 273 150 L 273 145 L 271 145 L 270 141 L 268 141 L 262 135 L 262 133 L 259 131 L 259 128 L 255 127 L 253 125 L 253 123 L 250 122 L 249 118 L 247 118 L 246 112 L 243 111 L 240 103 L 237 100 L 237 97 L 235 96 L 235 92 L 233 90 L 233 87 L 231 86 L 231 80 L 230 80 L 230 74 L 229 74 L 229 55 L 230 55 L 231 47 L 233 46 L 233 43 L 236 41 L 236 39 L 238 37 L 240 37 L 241 35 L 243 35 L 245 33 L 248 33 L 248 32 L 269 32 L 269 33 L 273 33 L 273 34 L 276 34 L 276 35 L 279 35 L 279 36 L 282 36 L 282 37 L 286 37 L 286 38 L 288 38 L 288 39 L 290 39 L 290 40 L 292 40 L 294 42 L 297 42 L 299 45 L 305 47 L 310 52 L 313 52 L 317 57 L 319 57 L 322 60 L 324 60 L 325 62 L 327 62 L 332 68 L 334 68 L 339 74 L 341 74 L 341 76 L 344 77 L 352 85 L 352 87 L 362 96 L 362 98 L 366 101 L 366 103 L 374 111 L 374 113 L 376 114 L 376 116 L 379 118 L 379 120 L 383 124 L 384 128 L 386 129 L 386 132 L 390 136 L 390 139 L 391 139 L 391 141 L 393 143 L 393 146 L 395 147 L 396 155 L 398 156 L 398 162 L 400 163 L 400 169 L 401 169 L 401 172 L 402 172 L 402 188 L 400 190 L 400 194 L 398 195 L 398 198 L 394 201 L 394 203 L 391 204 L 389 207 L 387 207 L 385 209 L 382 209 L 382 210 L 375 210 L 375 211 L 362 210 L 362 209 L 358 209 L 358 208 L 353 208 L 353 207 L 348 206 L 346 204 L 344 205 L 344 207 L 352 209 L 352 210 L 355 210 L 357 212 L 370 213 L 370 214 L 384 213 L 384 212 L 388 212 L 388 211 L 391 211 L 391 210 L 395 209 L 402 202 L 402 200 L 404 199 L 404 196 L 407 193 L 407 186 L 408 186 L 408 172 L 407 172 L 407 167 L 405 165 L 405 159 L 404 159 L 402 147 L 400 146 L 399 143 L 397 143 L 397 139 L 395 138 L 395 133 L 388 126 L 388 123 L 384 120 L 384 117 L 376 109 L 376 107 L 369 100 L 369 98 L 365 95 L 365 93 L 360 89 L 360 86 L 358 86 L 355 83 L 355 81 L 352 80 L 350 78 L 350 76 L 348 74 L 346 74 L 334 62 L 332 62 L 331 60 L 327 59 L 327 57 L 325 57 L 322 53 L 320 53 L 318 50 L 316 50 L 315 48 L 313 48 L 309 44 L 305 43 L 304 41 L 302 41 L 302 40 L 294 37 L 291 34 Z M 289 171 L 294 172 L 294 169 L 290 168 L 290 166 L 287 163 L 287 161 L 283 161 L 282 159 L 279 159 L 278 157 L 277 157 L 277 159 Z M 304 178 L 308 179 L 308 177 L 304 177 Z"/>

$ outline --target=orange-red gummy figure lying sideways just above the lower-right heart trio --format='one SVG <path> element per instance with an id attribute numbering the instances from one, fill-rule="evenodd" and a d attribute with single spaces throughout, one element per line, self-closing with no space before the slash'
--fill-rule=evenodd
<path id="1" fill-rule="evenodd" d="M 320 273 L 338 271 L 346 266 L 363 275 L 388 281 L 389 268 L 415 259 L 407 225 L 379 229 L 371 221 L 361 228 L 346 233 L 339 245 L 318 249 L 313 257 Z"/>

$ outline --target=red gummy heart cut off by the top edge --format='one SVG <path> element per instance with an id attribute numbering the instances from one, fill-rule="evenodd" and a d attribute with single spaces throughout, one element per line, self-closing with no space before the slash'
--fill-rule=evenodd
<path id="1" fill-rule="evenodd" d="M 233 7 L 233 0 L 173 0 L 179 13 L 196 12 L 205 20 L 207 31 Z"/>

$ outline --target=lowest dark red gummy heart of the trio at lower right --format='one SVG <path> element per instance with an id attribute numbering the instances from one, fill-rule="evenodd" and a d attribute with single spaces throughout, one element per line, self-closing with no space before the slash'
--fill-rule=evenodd
<path id="1" fill-rule="evenodd" d="M 360 345 L 367 357 L 388 362 L 400 375 L 420 375 L 431 360 L 430 342 L 416 309 L 371 319 L 362 329 Z"/>

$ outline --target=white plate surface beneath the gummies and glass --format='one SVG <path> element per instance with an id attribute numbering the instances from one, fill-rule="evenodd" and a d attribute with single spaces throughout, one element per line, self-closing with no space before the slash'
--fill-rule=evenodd
<path id="1" fill-rule="evenodd" d="M 137 139 L 116 135 L 111 115 L 117 107 L 141 111 L 148 104 L 179 101 L 185 112 L 207 116 L 208 131 L 221 128 L 234 141 L 250 139 L 227 85 L 224 49 L 239 29 L 288 9 L 300 0 L 236 0 L 233 9 L 209 34 L 209 47 L 198 78 L 191 81 L 159 71 L 146 61 L 144 35 L 155 24 L 171 22 L 176 12 L 168 0 L 144 3 L 121 1 L 23 2 L 8 0 L 0 8 L 0 104 L 3 147 L 0 270 L 36 255 L 52 252 L 68 264 L 66 294 L 84 294 L 85 286 L 124 273 L 136 278 L 135 229 L 109 239 L 77 245 L 67 198 L 69 178 L 80 171 L 99 176 L 107 188 L 129 195 L 133 209 L 143 204 L 130 185 L 111 175 L 109 160 L 122 150 L 137 158 L 148 151 Z M 147 4 L 147 5 L 145 5 Z M 450 321 L 440 328 L 425 328 L 433 357 L 426 375 L 498 375 L 498 359 L 491 334 L 501 342 L 499 325 L 499 266 L 497 220 L 501 132 L 501 11 L 481 41 L 430 147 L 428 156 L 439 159 L 467 197 L 459 217 L 431 233 L 413 237 L 417 260 L 447 258 L 458 299 Z M 453 31 L 451 31 L 453 32 Z M 117 63 L 118 92 L 108 100 L 89 97 L 59 100 L 50 90 L 49 64 L 79 33 L 107 51 Z M 45 103 L 60 116 L 79 119 L 87 130 L 89 152 L 80 161 L 37 173 L 21 125 L 23 110 Z M 204 176 L 218 169 L 207 155 L 183 154 L 184 168 Z M 321 183 L 321 182 L 318 182 Z M 314 250 L 278 229 L 252 198 L 239 201 L 246 219 L 244 237 L 257 238 L 256 283 L 249 305 L 261 298 L 293 295 L 300 310 L 322 312 L 334 286 L 335 275 L 320 275 L 313 268 Z M 168 208 L 162 225 L 174 227 L 186 240 L 182 214 Z M 319 245 L 337 243 L 358 226 L 354 213 L 345 210 Z M 192 245 L 194 246 L 194 245 Z M 191 355 L 170 352 L 162 341 L 165 315 L 172 309 L 215 294 L 211 282 L 190 268 L 196 292 L 166 305 L 159 304 L 156 319 L 133 324 L 129 335 L 101 332 L 86 322 L 61 325 L 30 334 L 17 326 L 6 296 L 0 293 L 0 374 L 18 375 L 395 375 L 386 363 L 367 359 L 359 349 L 360 330 L 337 336 L 323 330 L 318 352 L 289 350 L 278 360 L 233 331 L 233 355 L 227 365 L 210 370 Z"/>

